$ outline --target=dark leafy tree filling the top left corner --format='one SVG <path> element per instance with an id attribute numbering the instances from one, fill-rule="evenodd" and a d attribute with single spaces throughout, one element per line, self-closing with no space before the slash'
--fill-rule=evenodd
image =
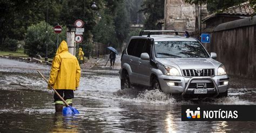
<path id="1" fill-rule="evenodd" d="M 50 4 L 54 2 L 49 1 Z M 40 0 L 1 1 L 0 47 L 6 38 L 23 40 L 28 26 L 44 20 L 46 6 L 46 1 Z"/>

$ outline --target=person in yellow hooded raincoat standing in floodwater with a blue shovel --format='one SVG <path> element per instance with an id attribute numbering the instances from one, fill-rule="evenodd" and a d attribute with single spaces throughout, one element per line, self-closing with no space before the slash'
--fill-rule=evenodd
<path id="1" fill-rule="evenodd" d="M 69 53 L 66 41 L 62 41 L 52 61 L 48 88 L 51 85 L 62 97 L 64 94 L 64 100 L 72 106 L 73 91 L 79 86 L 80 73 L 77 58 Z M 63 101 L 57 94 L 53 98 L 56 112 L 62 112 Z"/>

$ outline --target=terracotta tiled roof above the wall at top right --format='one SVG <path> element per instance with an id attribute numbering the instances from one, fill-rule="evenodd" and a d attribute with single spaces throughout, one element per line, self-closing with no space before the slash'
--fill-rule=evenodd
<path id="1" fill-rule="evenodd" d="M 244 2 L 239 5 L 232 6 L 225 10 L 219 10 L 216 13 L 210 14 L 209 16 L 205 17 L 203 21 L 206 21 L 210 18 L 213 18 L 217 15 L 227 15 L 227 16 L 241 16 L 241 17 L 249 17 L 254 13 L 256 5 L 253 7 L 250 5 L 250 2 Z"/>

